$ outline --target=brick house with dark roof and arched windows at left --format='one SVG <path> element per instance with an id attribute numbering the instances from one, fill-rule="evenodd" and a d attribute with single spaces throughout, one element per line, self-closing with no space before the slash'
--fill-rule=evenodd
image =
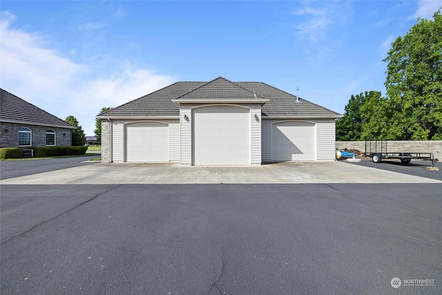
<path id="1" fill-rule="evenodd" d="M 76 127 L 0 88 L 0 148 L 70 146 L 73 129 Z"/>

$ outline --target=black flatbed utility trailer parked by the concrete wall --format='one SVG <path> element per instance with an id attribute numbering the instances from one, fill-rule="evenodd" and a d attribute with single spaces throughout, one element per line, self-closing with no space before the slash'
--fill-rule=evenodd
<path id="1" fill-rule="evenodd" d="M 432 166 L 439 161 L 434 158 L 434 153 L 412 153 L 412 152 L 389 152 L 387 151 L 388 142 L 386 140 L 365 141 L 365 157 L 372 158 L 373 162 L 378 163 L 383 159 L 401 160 L 402 164 L 408 164 L 411 160 L 431 161 Z"/>

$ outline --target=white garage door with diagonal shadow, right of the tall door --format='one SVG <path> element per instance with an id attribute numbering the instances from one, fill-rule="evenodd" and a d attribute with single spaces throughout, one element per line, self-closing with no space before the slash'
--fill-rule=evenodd
<path id="1" fill-rule="evenodd" d="M 271 127 L 271 160 L 316 160 L 315 125 L 307 122 L 287 121 Z"/>

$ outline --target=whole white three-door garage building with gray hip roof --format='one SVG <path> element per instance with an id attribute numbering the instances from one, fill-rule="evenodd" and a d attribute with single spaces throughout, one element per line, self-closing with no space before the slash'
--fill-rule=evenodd
<path id="1" fill-rule="evenodd" d="M 335 158 L 338 113 L 262 82 L 177 82 L 97 116 L 102 162 L 260 165 Z"/>

